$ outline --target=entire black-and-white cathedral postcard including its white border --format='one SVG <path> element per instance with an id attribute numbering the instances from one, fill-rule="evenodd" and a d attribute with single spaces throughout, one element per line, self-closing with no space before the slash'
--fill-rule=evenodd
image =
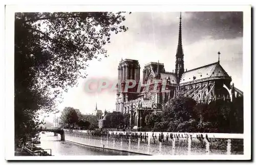
<path id="1" fill-rule="evenodd" d="M 5 17 L 6 159 L 251 158 L 250 6 Z"/>

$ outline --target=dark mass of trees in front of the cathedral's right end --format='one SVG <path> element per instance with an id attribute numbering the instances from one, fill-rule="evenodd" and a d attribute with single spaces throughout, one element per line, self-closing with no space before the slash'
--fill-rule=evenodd
<path id="1" fill-rule="evenodd" d="M 147 115 L 145 124 L 156 131 L 243 133 L 243 97 L 210 104 L 175 98 L 162 113 Z"/>

